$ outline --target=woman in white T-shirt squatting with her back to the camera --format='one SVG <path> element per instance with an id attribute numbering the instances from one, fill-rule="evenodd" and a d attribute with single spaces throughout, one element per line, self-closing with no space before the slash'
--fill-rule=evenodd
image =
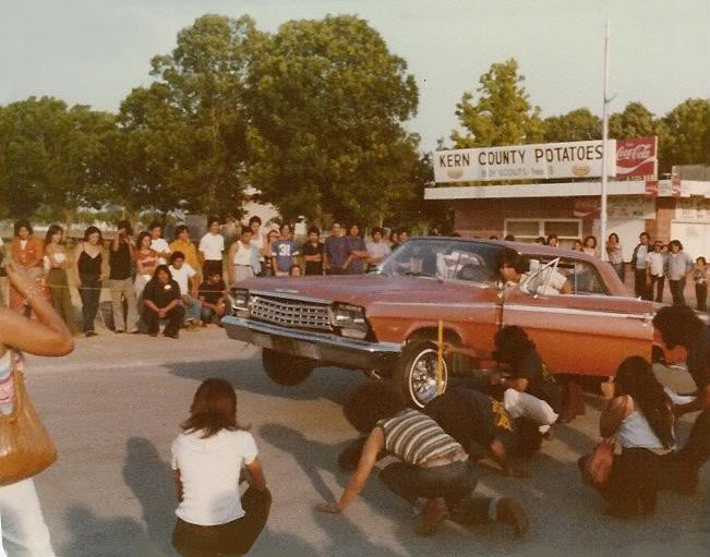
<path id="1" fill-rule="evenodd" d="M 224 379 L 205 379 L 190 417 L 172 443 L 172 470 L 180 504 L 172 545 L 185 557 L 243 555 L 264 529 L 272 495 L 254 437 L 237 422 L 237 395 Z M 239 496 L 246 468 L 251 486 Z"/>

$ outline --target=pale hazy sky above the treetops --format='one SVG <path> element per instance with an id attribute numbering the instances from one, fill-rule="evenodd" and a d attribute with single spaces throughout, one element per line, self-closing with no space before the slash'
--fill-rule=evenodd
<path id="1" fill-rule="evenodd" d="M 117 111 L 149 83 L 149 60 L 204 13 L 289 20 L 357 14 L 404 58 L 420 89 L 407 128 L 422 150 L 459 129 L 456 104 L 494 62 L 515 58 L 543 117 L 601 116 L 604 23 L 611 112 L 641 101 L 663 116 L 710 97 L 708 0 L 0 0 L 0 105 L 49 95 Z"/>

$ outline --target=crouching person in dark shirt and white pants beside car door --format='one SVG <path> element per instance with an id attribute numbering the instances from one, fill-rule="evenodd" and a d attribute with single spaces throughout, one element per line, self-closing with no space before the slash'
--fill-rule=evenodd
<path id="1" fill-rule="evenodd" d="M 494 360 L 508 366 L 510 372 L 508 377 L 497 377 L 498 385 L 505 388 L 505 409 L 514 419 L 525 417 L 543 426 L 541 431 L 544 433 L 559 415 L 559 386 L 522 328 L 516 325 L 503 327 L 495 334 L 494 342 Z"/>

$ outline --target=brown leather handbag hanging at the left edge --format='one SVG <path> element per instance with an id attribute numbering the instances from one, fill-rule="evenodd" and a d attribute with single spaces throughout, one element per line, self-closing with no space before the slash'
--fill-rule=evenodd
<path id="1" fill-rule="evenodd" d="M 0 414 L 0 485 L 32 477 L 57 460 L 57 449 L 39 421 L 27 390 L 21 363 L 13 358 L 14 401 L 10 414 Z"/>

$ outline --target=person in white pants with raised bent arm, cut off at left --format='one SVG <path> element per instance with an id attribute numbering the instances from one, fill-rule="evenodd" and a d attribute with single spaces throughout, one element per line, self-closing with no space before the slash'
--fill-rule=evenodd
<path id="1" fill-rule="evenodd" d="M 58 356 L 68 354 L 74 348 L 70 330 L 36 289 L 34 278 L 14 264 L 5 270 L 12 288 L 32 307 L 37 318 L 31 320 L 0 307 L 0 416 L 4 417 L 13 412 L 15 392 L 12 372 L 15 366 L 22 365 L 22 352 Z M 0 486 L 0 555 L 4 555 L 2 538 L 12 541 L 17 555 L 55 555 L 32 477 Z"/>

